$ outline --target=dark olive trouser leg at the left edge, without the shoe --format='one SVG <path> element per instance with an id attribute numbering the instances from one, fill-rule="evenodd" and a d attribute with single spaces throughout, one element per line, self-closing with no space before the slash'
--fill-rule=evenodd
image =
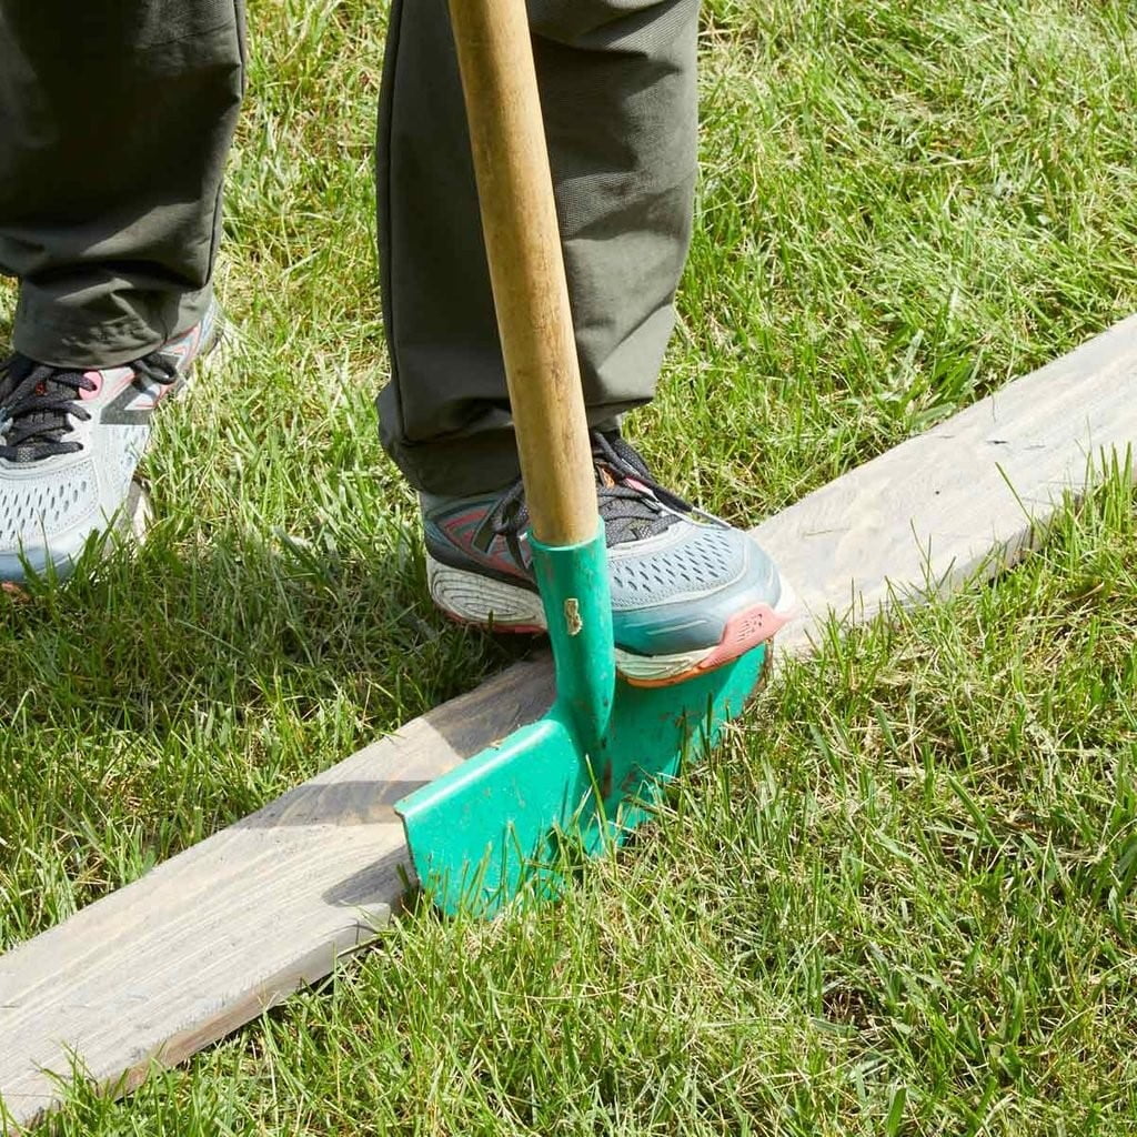
<path id="1" fill-rule="evenodd" d="M 243 0 L 0 0 L 0 272 L 15 349 L 113 366 L 209 302 Z"/>

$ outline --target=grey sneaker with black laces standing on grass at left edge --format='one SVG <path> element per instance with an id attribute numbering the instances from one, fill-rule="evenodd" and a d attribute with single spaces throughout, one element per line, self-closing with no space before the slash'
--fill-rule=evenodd
<path id="1" fill-rule="evenodd" d="M 64 579 L 92 538 L 140 531 L 134 473 L 151 415 L 221 326 L 213 305 L 184 335 L 121 367 L 51 367 L 18 354 L 0 363 L 0 582 L 22 583 L 25 563 Z"/>

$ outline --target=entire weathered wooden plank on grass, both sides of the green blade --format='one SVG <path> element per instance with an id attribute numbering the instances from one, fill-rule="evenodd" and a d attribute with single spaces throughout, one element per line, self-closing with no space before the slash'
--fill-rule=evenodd
<path id="1" fill-rule="evenodd" d="M 811 493 L 755 536 L 795 582 L 808 646 L 829 611 L 860 620 L 995 572 L 1045 525 L 1093 455 L 1137 442 L 1137 317 Z M 74 1053 L 135 1085 L 326 974 L 365 941 L 407 868 L 391 804 L 551 697 L 520 664 L 0 957 L 0 1098 L 16 1122 L 58 1098 Z"/>

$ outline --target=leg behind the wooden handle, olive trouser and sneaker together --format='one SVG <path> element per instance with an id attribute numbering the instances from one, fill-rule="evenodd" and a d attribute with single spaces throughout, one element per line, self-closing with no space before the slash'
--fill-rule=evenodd
<path id="1" fill-rule="evenodd" d="M 697 0 L 530 0 L 573 323 L 608 547 L 616 663 L 678 682 L 771 637 L 792 605 L 737 529 L 657 484 L 613 429 L 653 395 L 696 174 Z M 392 14 L 380 130 L 380 247 L 393 377 L 388 450 L 422 493 L 435 603 L 543 626 L 526 548 L 446 0 Z M 524 223 L 524 218 L 518 218 Z"/>

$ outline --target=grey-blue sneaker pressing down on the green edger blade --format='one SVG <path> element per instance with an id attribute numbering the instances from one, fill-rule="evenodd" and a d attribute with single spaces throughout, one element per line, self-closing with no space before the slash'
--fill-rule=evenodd
<path id="1" fill-rule="evenodd" d="M 617 433 L 592 432 L 592 460 L 616 666 L 629 682 L 680 682 L 736 659 L 786 623 L 792 592 L 746 533 L 659 485 Z M 434 603 L 464 623 L 543 631 L 521 482 L 474 497 L 423 495 L 422 506 Z"/>

